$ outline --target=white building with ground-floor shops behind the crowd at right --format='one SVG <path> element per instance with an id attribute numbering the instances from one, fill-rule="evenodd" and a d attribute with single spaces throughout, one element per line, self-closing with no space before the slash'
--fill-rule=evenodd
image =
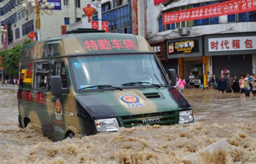
<path id="1" fill-rule="evenodd" d="M 189 77 L 207 71 L 220 76 L 227 69 L 231 76 L 256 73 L 256 12 L 230 14 L 201 20 L 189 20 L 163 25 L 163 14 L 189 8 L 203 7 L 224 1 L 183 0 L 164 6 L 147 1 L 148 42 L 166 49 L 161 60 L 166 69 L 174 68 L 178 75 Z M 165 42 L 157 45 L 157 42 Z M 255 46 L 254 46 L 255 45 Z"/>

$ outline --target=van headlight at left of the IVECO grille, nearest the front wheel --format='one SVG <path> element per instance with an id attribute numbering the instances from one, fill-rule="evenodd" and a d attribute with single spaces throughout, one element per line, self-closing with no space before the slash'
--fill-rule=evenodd
<path id="1" fill-rule="evenodd" d="M 119 123 L 116 118 L 96 120 L 95 125 L 98 132 L 113 132 L 119 130 Z"/>

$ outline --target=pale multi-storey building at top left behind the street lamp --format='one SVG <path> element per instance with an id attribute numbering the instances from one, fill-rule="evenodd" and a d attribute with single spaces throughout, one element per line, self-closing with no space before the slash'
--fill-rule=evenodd
<path id="1" fill-rule="evenodd" d="M 41 40 L 61 35 L 61 25 L 70 25 L 81 20 L 83 8 L 89 3 L 81 0 L 48 0 L 54 3 L 53 13 L 40 14 Z M 0 22 L 8 31 L 8 48 L 21 43 L 30 31 L 36 32 L 36 14 L 26 14 L 22 8 L 26 0 L 0 0 Z M 27 6 L 27 13 L 32 10 Z M 43 12 L 42 12 L 43 13 Z M 3 48 L 3 35 L 0 41 Z"/>

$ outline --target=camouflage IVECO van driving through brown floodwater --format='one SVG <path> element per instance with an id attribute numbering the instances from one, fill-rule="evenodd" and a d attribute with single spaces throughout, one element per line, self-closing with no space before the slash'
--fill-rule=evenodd
<path id="1" fill-rule="evenodd" d="M 193 122 L 175 71 L 169 77 L 143 37 L 71 33 L 29 43 L 20 56 L 19 125 L 61 140 Z"/>

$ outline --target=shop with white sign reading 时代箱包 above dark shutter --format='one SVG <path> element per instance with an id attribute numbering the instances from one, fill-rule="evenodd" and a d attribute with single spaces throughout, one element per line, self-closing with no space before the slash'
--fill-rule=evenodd
<path id="1" fill-rule="evenodd" d="M 205 55 L 212 57 L 212 74 L 230 71 L 230 76 L 253 73 L 256 33 L 205 36 Z"/>

